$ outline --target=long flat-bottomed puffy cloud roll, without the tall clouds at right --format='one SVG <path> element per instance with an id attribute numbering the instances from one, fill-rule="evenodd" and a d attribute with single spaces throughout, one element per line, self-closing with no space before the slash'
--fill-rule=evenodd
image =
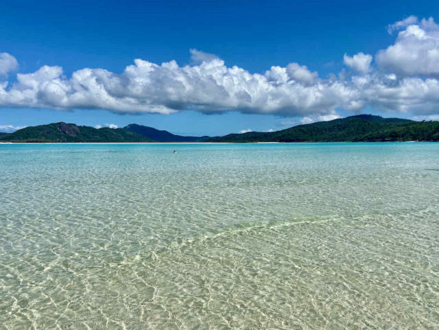
<path id="1" fill-rule="evenodd" d="M 226 67 L 218 58 L 180 67 L 134 60 L 120 75 L 105 69 L 81 69 L 71 78 L 61 67 L 41 67 L 17 74 L 12 86 L 0 86 L 0 106 L 102 108 L 117 113 L 175 113 L 198 110 L 222 113 L 324 115 L 337 106 L 351 107 L 349 91 L 340 82 L 314 82 L 316 73 L 293 63 L 261 75 Z"/>

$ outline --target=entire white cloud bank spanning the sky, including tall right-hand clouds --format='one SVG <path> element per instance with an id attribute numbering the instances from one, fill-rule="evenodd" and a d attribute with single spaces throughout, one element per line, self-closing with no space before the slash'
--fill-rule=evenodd
<path id="1" fill-rule="evenodd" d="M 105 109 L 115 113 L 272 114 L 302 117 L 302 122 L 339 117 L 337 110 L 375 110 L 435 115 L 439 109 L 439 25 L 409 16 L 388 25 L 399 31 L 393 45 L 374 56 L 344 54 L 348 72 L 320 78 L 291 62 L 265 73 L 227 67 L 213 54 L 191 49 L 191 65 L 156 64 L 136 59 L 121 74 L 84 68 L 67 78 L 61 67 L 17 73 L 16 59 L 0 54 L 0 106 L 57 110 Z M 1 78 L 0 78 L 1 79 Z M 3 82 L 2 82 L 3 81 Z"/>

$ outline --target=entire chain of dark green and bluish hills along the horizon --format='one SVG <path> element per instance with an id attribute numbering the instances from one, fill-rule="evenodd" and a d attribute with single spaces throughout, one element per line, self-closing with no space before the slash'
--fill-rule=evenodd
<path id="1" fill-rule="evenodd" d="M 30 126 L 0 133 L 0 142 L 383 142 L 439 141 L 439 121 L 414 121 L 356 115 L 298 125 L 276 132 L 247 132 L 224 137 L 185 137 L 132 123 L 124 128 L 93 128 L 74 123 Z"/>

